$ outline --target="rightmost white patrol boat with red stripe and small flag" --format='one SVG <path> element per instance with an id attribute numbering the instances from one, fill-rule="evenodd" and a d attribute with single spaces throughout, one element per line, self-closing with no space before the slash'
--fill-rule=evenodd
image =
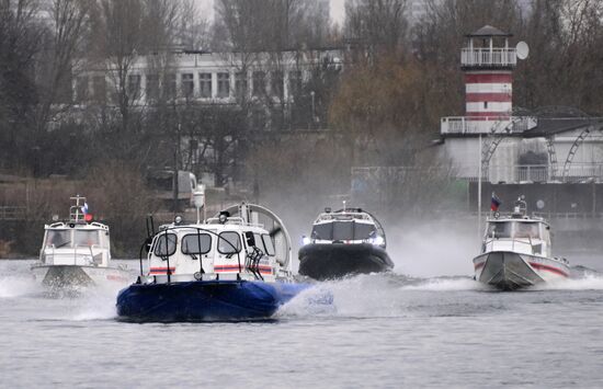
<path id="1" fill-rule="evenodd" d="M 523 196 L 511 215 L 488 218 L 481 254 L 474 259 L 475 278 L 504 290 L 569 277 L 566 259 L 553 258 L 550 227 L 526 215 Z"/>

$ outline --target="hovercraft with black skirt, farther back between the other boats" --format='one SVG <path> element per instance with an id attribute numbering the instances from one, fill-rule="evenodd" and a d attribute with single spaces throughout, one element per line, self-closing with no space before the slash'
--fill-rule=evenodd
<path id="1" fill-rule="evenodd" d="M 315 279 L 340 278 L 361 273 L 386 272 L 394 263 L 386 252 L 379 221 L 360 208 L 326 208 L 304 237 L 299 274 Z"/>

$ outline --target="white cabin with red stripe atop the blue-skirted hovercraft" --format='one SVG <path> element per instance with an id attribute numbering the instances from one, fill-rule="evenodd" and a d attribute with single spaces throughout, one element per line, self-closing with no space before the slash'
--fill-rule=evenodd
<path id="1" fill-rule="evenodd" d="M 168 225 L 152 238 L 141 283 L 262 279 L 291 276 L 286 255 L 262 225 L 242 218 Z"/>

